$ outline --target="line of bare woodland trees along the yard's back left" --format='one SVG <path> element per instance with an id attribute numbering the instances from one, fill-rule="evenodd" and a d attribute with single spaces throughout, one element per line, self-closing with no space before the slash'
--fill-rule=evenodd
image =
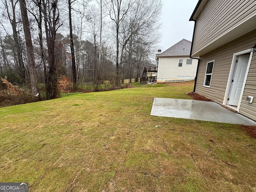
<path id="1" fill-rule="evenodd" d="M 33 94 L 58 97 L 60 74 L 98 90 L 152 65 L 161 0 L 1 1 L 0 77 Z"/>

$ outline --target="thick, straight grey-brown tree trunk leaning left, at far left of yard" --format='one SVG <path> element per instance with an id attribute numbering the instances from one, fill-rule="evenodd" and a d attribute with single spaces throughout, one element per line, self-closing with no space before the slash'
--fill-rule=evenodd
<path id="1" fill-rule="evenodd" d="M 28 13 L 26 9 L 26 1 L 20 0 L 20 12 L 22 17 L 23 23 L 23 30 L 26 42 L 26 50 L 28 54 L 28 71 L 30 74 L 30 85 L 32 88 L 33 94 L 36 94 L 38 91 L 38 84 L 36 79 L 36 68 L 35 68 L 35 58 L 34 58 L 34 51 L 33 45 L 31 40 L 30 28 L 29 28 L 29 21 L 28 21 Z"/>

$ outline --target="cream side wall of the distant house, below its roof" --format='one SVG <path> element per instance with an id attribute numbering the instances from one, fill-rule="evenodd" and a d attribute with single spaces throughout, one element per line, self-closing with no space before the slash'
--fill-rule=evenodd
<path id="1" fill-rule="evenodd" d="M 179 59 L 183 59 L 182 67 L 178 66 Z M 168 80 L 193 80 L 196 76 L 198 60 L 193 59 L 191 65 L 186 64 L 187 57 L 160 57 L 158 62 L 157 82 Z"/>

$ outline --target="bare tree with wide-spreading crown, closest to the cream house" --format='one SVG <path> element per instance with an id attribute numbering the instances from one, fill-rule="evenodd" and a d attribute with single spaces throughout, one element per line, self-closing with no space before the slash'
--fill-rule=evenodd
<path id="1" fill-rule="evenodd" d="M 128 52 L 128 68 L 130 68 L 130 78 L 132 78 L 132 54 L 134 41 L 139 39 L 141 44 L 145 44 L 145 51 L 152 53 L 148 49 L 152 44 L 159 41 L 157 35 L 160 27 L 159 13 L 162 9 L 161 0 L 135 0 L 130 12 L 122 22 L 122 52 L 121 62 L 123 61 L 124 51 Z M 128 48 L 126 48 L 128 44 Z M 152 53 L 153 54 L 153 53 Z"/>

